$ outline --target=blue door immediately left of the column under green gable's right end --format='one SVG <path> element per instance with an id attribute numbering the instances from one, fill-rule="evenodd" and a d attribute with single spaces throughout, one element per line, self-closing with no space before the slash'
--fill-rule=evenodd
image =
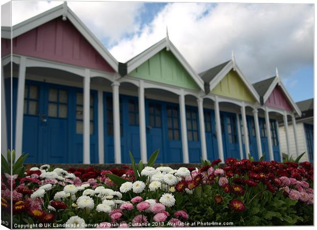
<path id="1" fill-rule="evenodd" d="M 165 152 L 168 153 L 164 155 L 164 163 L 183 163 L 179 106 L 177 104 L 164 103 L 163 118 L 166 118 L 166 120 L 163 120 L 163 127 L 165 126 L 165 133 L 167 133 Z"/>

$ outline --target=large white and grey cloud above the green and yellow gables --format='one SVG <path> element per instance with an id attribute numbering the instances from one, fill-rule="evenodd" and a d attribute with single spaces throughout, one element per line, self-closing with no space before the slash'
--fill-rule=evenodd
<path id="1" fill-rule="evenodd" d="M 273 76 L 276 66 L 287 78 L 313 61 L 313 7 L 300 4 L 169 4 L 110 52 L 126 61 L 162 39 L 166 26 L 197 72 L 230 59 L 232 50 L 251 82 Z"/>

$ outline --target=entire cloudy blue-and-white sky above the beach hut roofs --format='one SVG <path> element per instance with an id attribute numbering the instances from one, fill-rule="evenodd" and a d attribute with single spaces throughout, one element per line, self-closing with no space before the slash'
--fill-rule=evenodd
<path id="1" fill-rule="evenodd" d="M 12 25 L 62 2 L 13 1 Z M 275 75 L 295 101 L 313 97 L 313 5 L 67 2 L 125 62 L 166 35 L 197 73 L 231 58 L 254 83 Z M 2 15 L 7 9 L 2 8 Z M 8 21 L 2 16 L 2 25 Z"/>

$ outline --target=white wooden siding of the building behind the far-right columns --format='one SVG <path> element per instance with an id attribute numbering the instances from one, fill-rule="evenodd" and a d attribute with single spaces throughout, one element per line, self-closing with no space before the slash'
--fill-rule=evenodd
<path id="1" fill-rule="evenodd" d="M 307 146 L 306 146 L 306 135 L 305 135 L 305 129 L 304 129 L 303 123 L 296 124 L 296 131 L 297 131 L 297 140 L 298 140 L 300 154 L 303 152 L 306 152 L 306 154 L 304 154 L 304 156 L 301 158 L 301 162 L 304 162 L 305 160 L 309 161 L 308 154 L 307 154 Z M 284 126 L 279 127 L 279 135 L 280 135 L 279 141 L 280 141 L 281 152 L 287 153 L 286 135 L 285 135 Z M 297 154 L 296 154 L 294 131 L 293 131 L 292 125 L 288 125 L 288 136 L 289 136 L 290 154 L 293 156 L 293 158 L 296 158 L 294 157 L 294 156 L 297 156 Z"/>

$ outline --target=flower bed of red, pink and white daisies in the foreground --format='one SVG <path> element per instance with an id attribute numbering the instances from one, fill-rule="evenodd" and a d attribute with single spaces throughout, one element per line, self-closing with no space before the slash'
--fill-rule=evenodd
<path id="1" fill-rule="evenodd" d="M 26 170 L 24 156 L 13 165 L 13 176 L 3 158 L 2 219 L 10 219 L 12 208 L 15 228 L 313 224 L 308 162 L 227 158 L 221 166 L 218 159 L 199 168 L 153 168 L 157 154 L 146 167 L 130 155 L 132 168 L 103 171 L 49 165 Z"/>

